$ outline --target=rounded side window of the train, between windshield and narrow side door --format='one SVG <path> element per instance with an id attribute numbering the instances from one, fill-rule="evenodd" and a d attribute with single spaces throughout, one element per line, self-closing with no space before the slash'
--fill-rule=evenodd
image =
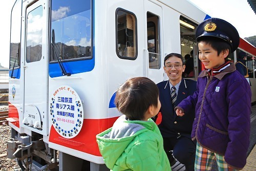
<path id="1" fill-rule="evenodd" d="M 123 59 L 137 57 L 136 17 L 123 9 L 116 11 L 116 53 Z"/>

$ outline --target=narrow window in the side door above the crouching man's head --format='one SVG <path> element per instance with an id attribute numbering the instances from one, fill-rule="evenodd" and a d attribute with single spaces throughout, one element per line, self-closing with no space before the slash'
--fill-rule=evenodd
<path id="1" fill-rule="evenodd" d="M 151 69 L 160 69 L 159 17 L 147 12 L 147 50 Z"/>

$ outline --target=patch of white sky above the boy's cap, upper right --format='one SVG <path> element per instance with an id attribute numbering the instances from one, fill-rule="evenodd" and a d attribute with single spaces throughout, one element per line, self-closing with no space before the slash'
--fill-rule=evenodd
<path id="1" fill-rule="evenodd" d="M 247 0 L 189 0 L 214 18 L 221 18 L 236 27 L 240 37 L 256 35 L 256 14 Z"/>

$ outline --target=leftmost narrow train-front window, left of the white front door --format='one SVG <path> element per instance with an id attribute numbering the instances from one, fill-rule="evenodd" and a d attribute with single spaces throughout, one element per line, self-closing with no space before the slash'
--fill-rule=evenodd
<path id="1" fill-rule="evenodd" d="M 11 13 L 10 69 L 20 66 L 20 28 L 22 0 L 15 2 Z"/>

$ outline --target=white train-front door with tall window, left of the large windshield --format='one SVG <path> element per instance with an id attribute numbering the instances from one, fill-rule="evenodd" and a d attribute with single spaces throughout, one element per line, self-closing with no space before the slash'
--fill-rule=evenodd
<path id="1" fill-rule="evenodd" d="M 23 127 L 47 135 L 47 24 L 42 1 L 28 6 L 25 18 L 24 117 Z"/>

